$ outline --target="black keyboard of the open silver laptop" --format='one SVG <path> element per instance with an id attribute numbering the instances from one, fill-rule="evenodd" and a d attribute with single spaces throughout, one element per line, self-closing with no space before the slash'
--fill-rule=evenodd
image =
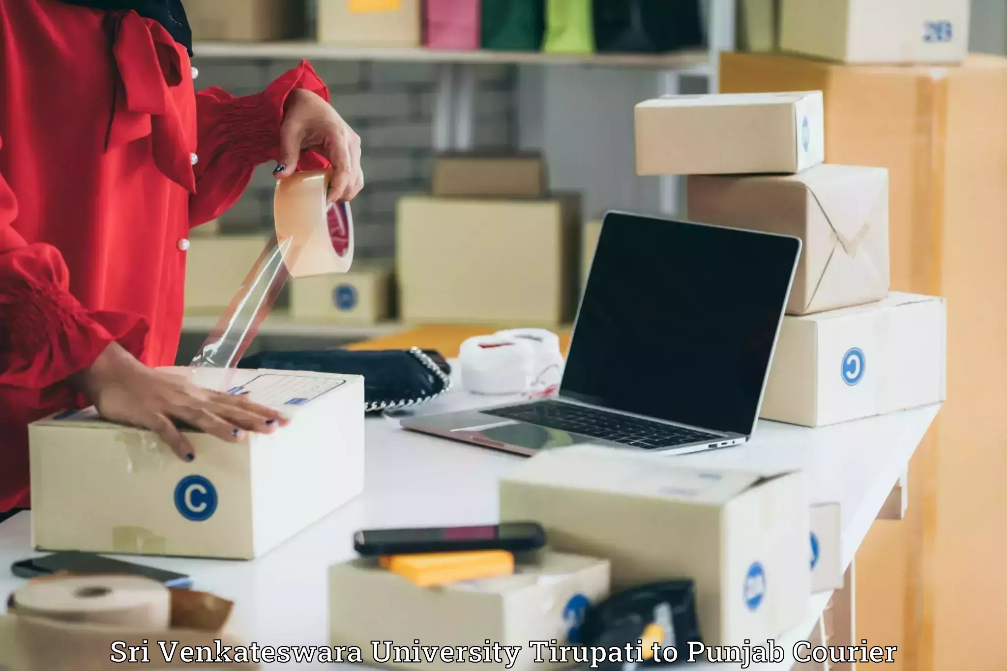
<path id="1" fill-rule="evenodd" d="M 556 429 L 591 438 L 604 439 L 634 448 L 657 450 L 689 445 L 701 441 L 715 441 L 722 437 L 716 434 L 673 427 L 660 422 L 607 412 L 592 407 L 581 407 L 572 403 L 555 400 L 541 400 L 523 405 L 511 405 L 481 410 L 506 420 L 517 420 L 528 424 Z"/>

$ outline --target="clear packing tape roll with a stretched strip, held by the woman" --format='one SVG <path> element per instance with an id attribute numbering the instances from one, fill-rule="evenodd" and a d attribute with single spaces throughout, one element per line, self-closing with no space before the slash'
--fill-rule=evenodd
<path id="1" fill-rule="evenodd" d="M 192 362 L 234 368 L 259 333 L 288 278 L 345 273 L 353 263 L 349 204 L 328 204 L 332 170 L 298 172 L 277 182 L 275 234 Z"/>

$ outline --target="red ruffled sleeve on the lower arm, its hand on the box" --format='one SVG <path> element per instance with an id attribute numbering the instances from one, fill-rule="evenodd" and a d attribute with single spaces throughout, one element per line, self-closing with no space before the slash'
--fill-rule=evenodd
<path id="1" fill-rule="evenodd" d="M 139 356 L 145 321 L 86 310 L 68 292 L 59 251 L 27 244 L 11 225 L 16 216 L 17 201 L 0 175 L 0 391 L 52 386 L 94 363 L 113 341 Z"/>

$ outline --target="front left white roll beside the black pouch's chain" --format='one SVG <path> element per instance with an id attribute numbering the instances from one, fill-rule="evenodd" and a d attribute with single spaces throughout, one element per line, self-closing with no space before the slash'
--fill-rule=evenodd
<path id="1" fill-rule="evenodd" d="M 525 340 L 487 335 L 461 343 L 461 387 L 471 393 L 524 393 L 535 374 L 535 350 Z"/>

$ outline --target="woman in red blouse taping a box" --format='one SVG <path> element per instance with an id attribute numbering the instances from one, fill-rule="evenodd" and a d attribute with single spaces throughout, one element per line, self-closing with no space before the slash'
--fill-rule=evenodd
<path id="1" fill-rule="evenodd" d="M 30 503 L 27 425 L 58 409 L 94 403 L 186 461 L 176 422 L 235 442 L 286 423 L 153 369 L 174 362 L 188 230 L 270 160 L 278 179 L 331 163 L 350 200 L 359 138 L 307 62 L 196 94 L 190 48 L 180 0 L 0 0 L 0 518 Z"/>

